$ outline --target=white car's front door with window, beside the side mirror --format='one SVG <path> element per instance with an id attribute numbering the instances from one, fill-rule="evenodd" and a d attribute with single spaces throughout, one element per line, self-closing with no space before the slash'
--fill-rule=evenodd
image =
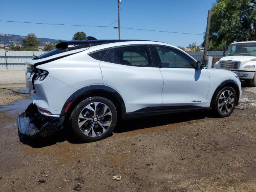
<path id="1" fill-rule="evenodd" d="M 210 86 L 206 69 L 195 69 L 185 53 L 167 46 L 154 46 L 155 57 L 164 78 L 163 106 L 202 106 Z"/>

